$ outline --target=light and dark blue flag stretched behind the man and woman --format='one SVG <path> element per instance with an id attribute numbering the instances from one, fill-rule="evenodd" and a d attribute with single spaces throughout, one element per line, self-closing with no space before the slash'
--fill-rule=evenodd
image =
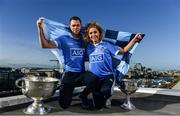
<path id="1" fill-rule="evenodd" d="M 70 29 L 67 25 L 52 21 L 49 19 L 44 18 L 43 30 L 45 33 L 46 38 L 51 40 L 56 39 L 57 37 L 63 35 L 71 35 Z M 82 29 L 82 33 L 84 32 L 84 28 Z M 123 31 L 114 31 L 114 30 L 105 30 L 105 41 L 109 41 L 114 45 L 117 45 L 121 48 L 126 46 L 131 39 L 135 36 L 133 33 L 123 32 Z M 142 34 L 144 37 L 144 34 Z M 113 65 L 115 67 L 115 76 L 116 81 L 120 82 L 121 79 L 128 73 L 129 70 L 129 63 L 131 55 L 133 54 L 134 50 L 137 48 L 140 41 L 136 42 L 133 47 L 122 55 L 114 56 Z M 56 56 L 59 60 L 61 67 L 64 67 L 64 57 L 62 50 L 59 49 L 51 49 L 51 52 Z"/>

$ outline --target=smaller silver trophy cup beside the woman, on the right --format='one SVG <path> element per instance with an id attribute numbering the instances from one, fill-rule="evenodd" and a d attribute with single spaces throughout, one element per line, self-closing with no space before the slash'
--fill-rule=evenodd
<path id="1" fill-rule="evenodd" d="M 137 81 L 134 79 L 123 79 L 120 84 L 120 89 L 126 95 L 126 100 L 121 105 L 123 109 L 133 110 L 136 107 L 130 100 L 130 95 L 135 93 L 137 90 Z"/>

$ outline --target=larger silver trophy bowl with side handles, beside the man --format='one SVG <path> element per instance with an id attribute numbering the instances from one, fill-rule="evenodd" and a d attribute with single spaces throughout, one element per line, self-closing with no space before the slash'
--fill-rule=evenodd
<path id="1" fill-rule="evenodd" d="M 21 83 L 20 83 L 21 82 Z M 57 88 L 59 79 L 52 77 L 24 77 L 16 80 L 16 86 L 22 93 L 33 99 L 33 103 L 23 110 L 25 114 L 47 114 L 51 108 L 43 103 L 43 99 L 51 97 Z"/>

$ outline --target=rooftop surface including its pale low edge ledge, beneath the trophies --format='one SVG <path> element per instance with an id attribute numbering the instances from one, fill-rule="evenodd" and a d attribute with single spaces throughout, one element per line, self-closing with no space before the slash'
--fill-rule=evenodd
<path id="1" fill-rule="evenodd" d="M 120 107 L 125 95 L 118 88 L 114 90 L 111 108 L 103 110 L 82 109 L 77 96 L 73 97 L 71 106 L 63 110 L 58 104 L 56 92 L 45 100 L 45 104 L 52 108 L 48 115 L 180 115 L 180 89 L 139 88 L 131 95 L 131 101 L 136 106 L 131 111 Z M 1 98 L 0 114 L 25 115 L 22 111 L 31 101 L 24 95 Z"/>

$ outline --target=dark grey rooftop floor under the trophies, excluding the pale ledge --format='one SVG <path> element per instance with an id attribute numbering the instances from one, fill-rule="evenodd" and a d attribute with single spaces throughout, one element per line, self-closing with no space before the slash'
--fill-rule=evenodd
<path id="1" fill-rule="evenodd" d="M 180 115 L 180 96 L 136 92 L 131 95 L 131 101 L 136 109 L 131 111 L 120 107 L 124 100 L 125 95 L 115 91 L 110 109 L 84 110 L 77 96 L 73 97 L 71 106 L 66 110 L 59 106 L 57 97 L 47 100 L 45 104 L 52 108 L 48 115 Z M 0 115 L 25 115 L 22 111 L 29 104 L 1 108 Z"/>

